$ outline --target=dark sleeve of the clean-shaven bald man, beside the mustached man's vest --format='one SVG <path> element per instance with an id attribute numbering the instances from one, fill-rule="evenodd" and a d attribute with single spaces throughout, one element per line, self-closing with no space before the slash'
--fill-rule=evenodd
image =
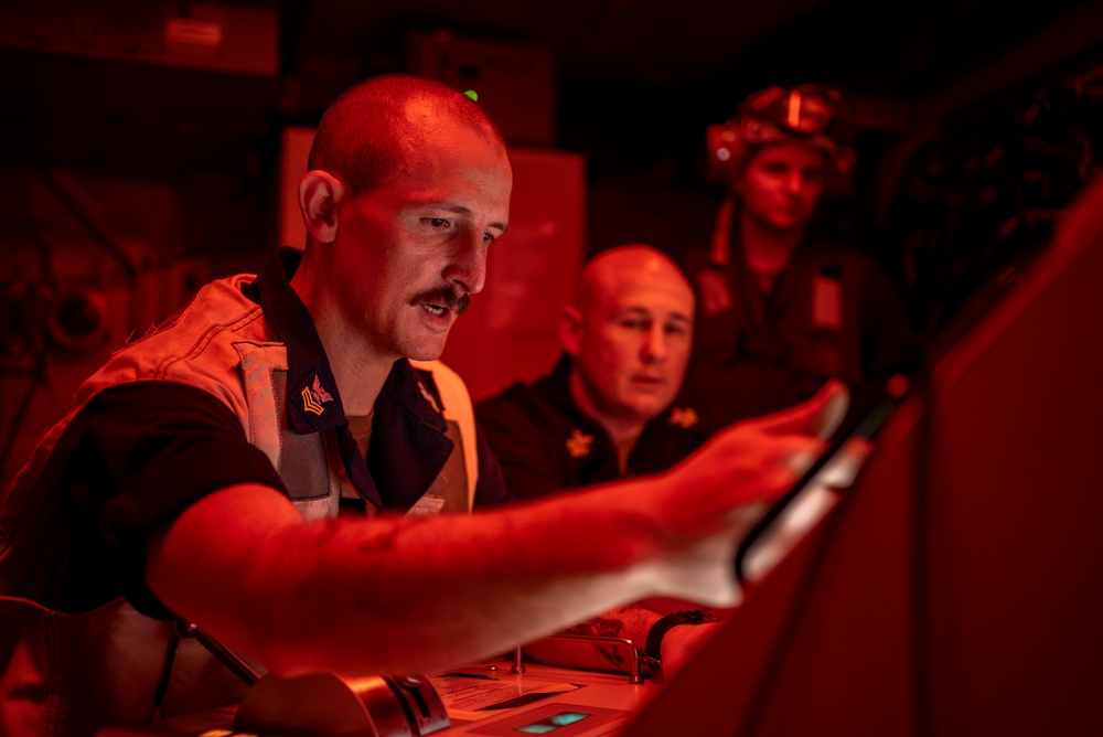
<path id="1" fill-rule="evenodd" d="M 549 439 L 522 406 L 499 396 L 475 405 L 475 416 L 501 463 L 511 496 L 537 499 L 564 488 L 561 472 L 548 456 Z"/>

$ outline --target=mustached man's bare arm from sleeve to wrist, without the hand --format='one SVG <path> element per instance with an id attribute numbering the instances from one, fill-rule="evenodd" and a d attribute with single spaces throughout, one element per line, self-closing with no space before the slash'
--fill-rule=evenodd
<path id="1" fill-rule="evenodd" d="M 623 505 L 304 524 L 289 504 L 272 516 L 274 496 L 236 488 L 201 501 L 154 546 L 149 579 L 280 671 L 429 671 L 494 654 L 647 592 L 630 569 L 657 551 L 656 531 Z M 208 515 L 236 530 L 206 535 Z"/>

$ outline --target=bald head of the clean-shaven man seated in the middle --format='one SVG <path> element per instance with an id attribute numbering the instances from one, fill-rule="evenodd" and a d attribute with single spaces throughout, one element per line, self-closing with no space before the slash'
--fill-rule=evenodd
<path id="1" fill-rule="evenodd" d="M 591 258 L 560 331 L 575 357 L 579 407 L 614 439 L 639 432 L 682 388 L 693 318 L 689 282 L 656 248 L 620 246 Z"/>

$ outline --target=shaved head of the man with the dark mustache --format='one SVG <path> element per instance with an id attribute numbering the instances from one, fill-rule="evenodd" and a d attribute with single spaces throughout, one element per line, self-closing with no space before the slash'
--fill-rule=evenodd
<path id="1" fill-rule="evenodd" d="M 291 286 L 319 334 L 329 330 L 326 345 L 349 356 L 357 378 L 345 383 L 371 373 L 382 386 L 395 361 L 439 357 L 482 290 L 490 244 L 508 227 L 505 143 L 465 95 L 385 75 L 330 106 L 309 165 L 299 182 L 309 237 Z"/>

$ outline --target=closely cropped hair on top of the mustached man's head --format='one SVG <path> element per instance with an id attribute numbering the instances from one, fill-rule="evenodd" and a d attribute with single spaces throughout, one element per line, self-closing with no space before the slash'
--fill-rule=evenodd
<path id="1" fill-rule="evenodd" d="M 505 150 L 497 127 L 467 95 L 408 74 L 371 77 L 325 110 L 308 168 L 333 174 L 354 193 L 364 192 L 401 171 L 411 154 L 458 124 Z"/>

